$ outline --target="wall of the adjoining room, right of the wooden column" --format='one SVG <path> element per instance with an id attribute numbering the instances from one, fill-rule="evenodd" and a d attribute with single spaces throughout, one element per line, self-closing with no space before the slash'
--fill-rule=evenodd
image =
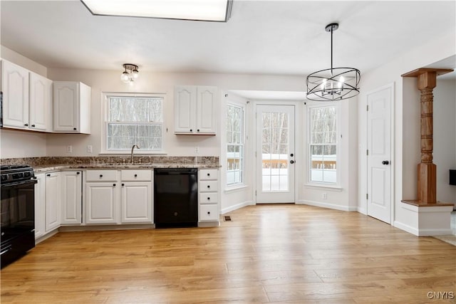
<path id="1" fill-rule="evenodd" d="M 456 204 L 456 186 L 448 184 L 448 169 L 456 169 L 456 80 L 440 80 L 434 93 L 434 163 L 437 201 Z"/>

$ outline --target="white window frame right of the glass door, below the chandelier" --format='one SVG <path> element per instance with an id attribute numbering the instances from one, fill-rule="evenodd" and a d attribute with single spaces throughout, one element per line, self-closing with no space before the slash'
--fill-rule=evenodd
<path id="1" fill-rule="evenodd" d="M 311 132 L 312 132 L 312 118 L 311 118 L 311 111 L 317 108 L 328 108 L 328 107 L 335 107 L 336 108 L 336 143 L 329 144 L 336 146 L 336 182 L 316 182 L 312 181 L 311 174 L 312 174 L 312 153 L 311 147 L 315 144 L 312 143 L 311 139 Z M 328 103 L 328 102 L 311 102 L 307 104 L 306 107 L 306 117 L 307 117 L 307 140 L 306 140 L 306 154 L 307 157 L 307 185 L 315 186 L 315 187 L 327 187 L 327 188 L 341 188 L 341 106 L 339 103 Z M 316 144 L 318 145 L 318 144 Z"/>

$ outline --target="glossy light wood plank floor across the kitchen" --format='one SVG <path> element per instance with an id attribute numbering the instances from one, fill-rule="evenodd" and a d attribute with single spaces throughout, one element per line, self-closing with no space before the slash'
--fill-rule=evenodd
<path id="1" fill-rule="evenodd" d="M 217 228 L 61 232 L 1 270 L 1 303 L 456 301 L 443 241 L 312 206 L 229 215 Z"/>

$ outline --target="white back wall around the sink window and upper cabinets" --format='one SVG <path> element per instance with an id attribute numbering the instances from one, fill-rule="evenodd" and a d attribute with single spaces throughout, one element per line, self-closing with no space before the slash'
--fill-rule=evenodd
<path id="1" fill-rule="evenodd" d="M 152 73 L 141 71 L 140 78 L 133 87 L 120 81 L 121 69 L 109 70 L 74 70 L 48 69 L 52 80 L 81 81 L 92 88 L 92 117 L 90 135 L 49 135 L 49 156 L 90 156 L 86 146 L 92 145 L 94 154 L 100 151 L 103 92 L 165 93 L 165 150 L 170 156 L 198 155 L 219 156 L 220 136 L 174 135 L 173 126 L 173 90 L 175 85 L 214 85 L 226 90 L 302 90 L 301 77 L 271 75 L 227 75 L 209 73 Z M 73 145 L 73 153 L 66 152 L 66 146 Z M 195 153 L 195 147 L 199 153 Z M 138 151 L 140 153 L 140 150 Z"/>

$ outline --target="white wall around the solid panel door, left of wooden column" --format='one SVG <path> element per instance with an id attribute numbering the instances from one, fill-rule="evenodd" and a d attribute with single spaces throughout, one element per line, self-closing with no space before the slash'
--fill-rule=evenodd
<path id="1" fill-rule="evenodd" d="M 413 134 L 416 132 L 416 127 L 414 125 L 418 120 L 413 113 L 418 113 L 420 105 L 419 98 L 416 102 L 412 102 L 417 94 L 413 88 L 414 80 L 403 79 L 400 75 L 415 70 L 416 68 L 430 65 L 444 58 L 454 56 L 456 53 L 455 36 L 455 28 L 449 28 L 447 33 L 442 33 L 441 36 L 437 36 L 435 40 L 425 41 L 423 46 L 408 51 L 405 50 L 404 53 L 398 56 L 398 58 L 395 58 L 394 61 L 385 63 L 375 70 L 363 74 L 363 77 L 361 78 L 361 93 L 358 98 L 358 138 L 359 150 L 361 151 L 366 151 L 367 149 L 366 94 L 383 85 L 388 85 L 390 83 L 394 83 L 395 85 L 393 100 L 395 115 L 393 117 L 393 155 L 395 164 L 393 164 L 394 184 L 392 189 L 394 196 L 394 201 L 392 202 L 394 218 L 392 220 L 395 225 L 400 226 L 402 229 L 404 229 L 405 226 L 415 225 L 410 220 L 410 212 L 403 208 L 403 204 L 401 204 L 400 201 L 401 199 L 410 199 L 410 197 L 405 197 L 406 195 L 414 195 L 413 197 L 416 199 L 416 165 L 418 162 L 412 161 L 410 158 L 416 157 L 417 155 L 419 157 L 420 154 L 419 142 L 418 144 L 416 143 L 417 138 Z M 411 124 L 412 127 L 404 130 L 404 126 L 409 124 Z M 404 151 L 407 151 L 408 154 L 405 154 Z M 360 210 L 366 210 L 366 199 L 363 199 L 367 193 L 366 154 L 361 153 L 358 161 L 360 168 L 358 192 L 360 205 L 358 208 Z M 404 179 L 410 179 L 414 182 L 404 183 Z"/>

